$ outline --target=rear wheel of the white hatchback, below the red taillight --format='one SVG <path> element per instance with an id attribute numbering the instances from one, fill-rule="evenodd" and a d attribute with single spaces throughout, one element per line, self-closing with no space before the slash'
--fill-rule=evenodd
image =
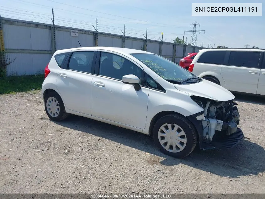
<path id="1" fill-rule="evenodd" d="M 51 108 L 48 104 L 51 105 Z M 45 95 L 44 106 L 46 114 L 53 121 L 61 121 L 66 119 L 68 116 L 68 113 L 65 111 L 63 101 L 57 92 L 50 92 Z M 51 109 L 53 109 L 53 111 Z"/>

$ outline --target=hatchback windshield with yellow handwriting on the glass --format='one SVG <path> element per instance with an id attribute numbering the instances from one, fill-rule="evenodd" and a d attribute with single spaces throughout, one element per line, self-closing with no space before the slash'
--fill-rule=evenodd
<path id="1" fill-rule="evenodd" d="M 148 68 L 153 70 L 157 75 L 161 76 L 169 82 L 176 83 L 190 83 L 198 82 L 201 79 L 197 78 L 192 73 L 183 69 L 178 64 L 163 58 L 156 54 L 130 54 L 136 59 L 140 60 Z"/>

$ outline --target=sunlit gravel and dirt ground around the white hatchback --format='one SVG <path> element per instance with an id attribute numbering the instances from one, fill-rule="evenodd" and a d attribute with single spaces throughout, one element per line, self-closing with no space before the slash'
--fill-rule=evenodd
<path id="1" fill-rule="evenodd" d="M 265 99 L 236 95 L 236 147 L 176 159 L 131 130 L 53 122 L 32 92 L 0 95 L 0 193 L 265 193 Z"/>

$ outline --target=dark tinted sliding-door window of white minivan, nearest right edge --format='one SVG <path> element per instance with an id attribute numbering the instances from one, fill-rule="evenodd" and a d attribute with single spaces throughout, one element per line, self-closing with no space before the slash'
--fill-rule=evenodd
<path id="1" fill-rule="evenodd" d="M 231 51 L 228 65 L 258 68 L 260 52 Z"/>

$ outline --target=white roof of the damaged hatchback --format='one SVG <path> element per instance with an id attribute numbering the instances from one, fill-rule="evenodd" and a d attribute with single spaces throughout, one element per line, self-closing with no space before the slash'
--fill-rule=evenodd
<path id="1" fill-rule="evenodd" d="M 117 53 L 121 53 L 121 54 L 133 54 L 133 53 L 141 53 L 141 54 L 154 54 L 154 53 L 150 53 L 150 52 L 146 52 L 146 51 L 142 51 L 142 50 L 136 50 L 136 49 L 131 49 L 131 48 L 118 48 L 118 47 L 80 47 L 80 48 L 69 48 L 69 49 L 63 49 L 63 50 L 57 50 L 55 52 L 55 54 L 59 54 L 59 53 L 67 53 L 70 51 L 74 51 L 74 50 L 109 50 L 109 51 L 114 51 Z"/>

